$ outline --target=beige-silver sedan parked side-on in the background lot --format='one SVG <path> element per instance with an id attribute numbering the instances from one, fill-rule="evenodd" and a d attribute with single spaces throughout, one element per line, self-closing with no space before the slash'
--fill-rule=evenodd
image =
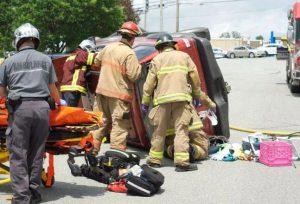
<path id="1" fill-rule="evenodd" d="M 233 50 L 229 50 L 226 55 L 228 58 L 236 58 L 236 57 L 264 57 L 266 56 L 265 51 L 261 51 L 258 49 L 254 49 L 250 46 L 240 46 L 236 47 Z"/>

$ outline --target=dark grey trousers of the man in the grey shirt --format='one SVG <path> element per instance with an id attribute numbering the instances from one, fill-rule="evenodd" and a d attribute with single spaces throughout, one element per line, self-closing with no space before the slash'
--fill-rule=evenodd
<path id="1" fill-rule="evenodd" d="M 9 122 L 7 146 L 10 159 L 13 203 L 30 203 L 39 195 L 45 142 L 49 135 L 46 101 L 23 101 Z"/>

